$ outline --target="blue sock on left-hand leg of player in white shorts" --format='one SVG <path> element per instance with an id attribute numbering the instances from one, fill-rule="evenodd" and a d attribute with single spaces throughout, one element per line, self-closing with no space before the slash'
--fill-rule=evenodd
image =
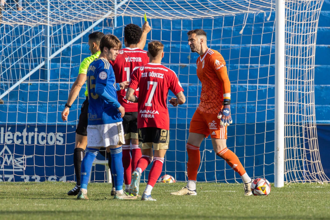
<path id="1" fill-rule="evenodd" d="M 87 147 L 87 149 L 86 149 L 86 155 L 82 159 L 82 167 L 81 167 L 81 173 L 80 173 L 80 176 L 81 176 L 80 188 L 81 189 L 87 189 L 87 184 L 89 181 L 92 164 L 93 164 L 93 161 L 98 152 L 99 152 L 99 149 L 89 148 L 89 147 Z"/>

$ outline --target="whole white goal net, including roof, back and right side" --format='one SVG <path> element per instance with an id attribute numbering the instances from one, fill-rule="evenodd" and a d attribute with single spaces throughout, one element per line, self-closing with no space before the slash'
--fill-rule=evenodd
<path id="1" fill-rule="evenodd" d="M 320 161 L 314 105 L 322 3 L 285 1 L 285 144 L 280 147 L 288 183 L 330 181 Z M 169 106 L 171 140 L 163 173 L 187 181 L 185 144 L 201 83 L 199 55 L 190 51 L 186 33 L 201 28 L 208 46 L 223 55 L 231 81 L 234 123 L 227 146 L 251 177 L 274 182 L 275 0 L 26 0 L 22 7 L 17 11 L 7 0 L 0 11 L 0 181 L 75 181 L 73 149 L 83 89 L 67 122 L 61 111 L 80 62 L 89 56 L 88 34 L 102 31 L 123 41 L 124 26 L 142 26 L 146 13 L 152 28 L 147 42 L 165 45 L 162 63 L 177 73 L 187 98 L 184 105 Z M 215 155 L 210 137 L 200 153 L 197 181 L 241 182 Z M 91 181 L 106 181 L 106 169 L 95 165 Z"/>

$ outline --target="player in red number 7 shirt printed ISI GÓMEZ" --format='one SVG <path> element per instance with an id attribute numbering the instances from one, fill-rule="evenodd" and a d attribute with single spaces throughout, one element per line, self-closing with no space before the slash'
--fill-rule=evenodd
<path id="1" fill-rule="evenodd" d="M 148 44 L 149 63 L 132 73 L 126 92 L 127 100 L 138 103 L 139 147 L 142 150 L 142 157 L 132 173 L 130 194 L 138 195 L 141 173 L 151 163 L 153 157 L 147 187 L 141 198 L 145 201 L 155 201 L 151 197 L 151 190 L 162 172 L 164 156 L 169 147 L 168 91 L 171 90 L 177 97 L 169 100 L 173 106 L 185 102 L 177 75 L 160 64 L 164 56 L 163 49 L 164 45 L 158 41 Z M 137 88 L 139 88 L 139 97 L 134 95 Z"/>

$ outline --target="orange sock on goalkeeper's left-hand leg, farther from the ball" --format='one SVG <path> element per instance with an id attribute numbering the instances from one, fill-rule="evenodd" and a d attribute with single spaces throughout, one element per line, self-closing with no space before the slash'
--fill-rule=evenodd
<path id="1" fill-rule="evenodd" d="M 201 154 L 199 152 L 199 147 L 196 147 L 190 143 L 186 144 L 188 153 L 188 163 L 187 163 L 187 174 L 188 180 L 197 179 L 197 171 L 199 164 L 201 163 Z"/>

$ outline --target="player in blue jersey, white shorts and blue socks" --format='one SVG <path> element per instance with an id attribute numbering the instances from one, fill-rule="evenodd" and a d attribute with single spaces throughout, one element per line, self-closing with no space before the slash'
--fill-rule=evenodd
<path id="1" fill-rule="evenodd" d="M 122 148 L 124 133 L 122 117 L 125 109 L 117 101 L 117 90 L 124 89 L 128 81 L 116 83 L 114 70 L 109 60 L 114 61 L 121 48 L 119 39 L 111 34 L 100 41 L 101 54 L 87 70 L 88 126 L 87 149 L 82 160 L 81 187 L 77 199 L 88 199 L 87 184 L 92 163 L 100 147 L 110 148 L 111 167 L 116 188 L 115 199 L 136 199 L 124 193 Z"/>

